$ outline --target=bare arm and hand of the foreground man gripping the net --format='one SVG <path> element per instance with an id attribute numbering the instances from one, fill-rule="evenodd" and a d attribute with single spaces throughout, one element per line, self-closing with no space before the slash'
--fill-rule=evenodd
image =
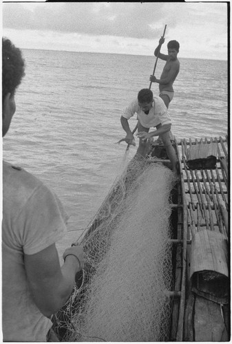
<path id="1" fill-rule="evenodd" d="M 81 246 L 73 246 L 68 250 L 73 255 L 67 255 L 62 267 L 55 244 L 34 255 L 24 256 L 34 303 L 48 317 L 58 311 L 70 297 L 76 272 L 84 265 L 85 254 Z"/>

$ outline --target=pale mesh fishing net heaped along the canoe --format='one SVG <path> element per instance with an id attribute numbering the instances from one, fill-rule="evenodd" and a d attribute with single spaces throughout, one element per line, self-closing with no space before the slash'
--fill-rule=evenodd
<path id="1" fill-rule="evenodd" d="M 62 341 L 168 341 L 174 182 L 167 167 L 136 159 L 116 180 L 81 241 L 81 286 L 56 314 Z"/>

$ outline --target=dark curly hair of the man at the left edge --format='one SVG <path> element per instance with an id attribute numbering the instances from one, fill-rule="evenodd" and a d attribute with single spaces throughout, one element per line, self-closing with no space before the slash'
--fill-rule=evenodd
<path id="1" fill-rule="evenodd" d="M 25 75 L 25 63 L 21 50 L 15 47 L 10 39 L 2 39 L 2 101 L 8 93 L 15 90 Z"/>

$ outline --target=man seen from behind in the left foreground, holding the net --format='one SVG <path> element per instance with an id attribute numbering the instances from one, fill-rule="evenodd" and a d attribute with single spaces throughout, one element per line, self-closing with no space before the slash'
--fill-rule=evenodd
<path id="1" fill-rule="evenodd" d="M 21 50 L 2 40 L 2 136 L 16 110 L 14 94 L 24 76 Z M 3 341 L 59 341 L 52 314 L 70 297 L 85 264 L 81 246 L 63 253 L 55 243 L 66 231 L 59 199 L 34 175 L 3 161 L 2 328 Z"/>

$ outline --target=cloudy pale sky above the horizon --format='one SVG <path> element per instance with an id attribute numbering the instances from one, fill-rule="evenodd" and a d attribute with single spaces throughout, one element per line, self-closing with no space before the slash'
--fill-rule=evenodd
<path id="1" fill-rule="evenodd" d="M 165 43 L 179 57 L 227 60 L 227 3 L 10 2 L 2 4 L 3 36 L 20 48 L 153 55 Z"/>

